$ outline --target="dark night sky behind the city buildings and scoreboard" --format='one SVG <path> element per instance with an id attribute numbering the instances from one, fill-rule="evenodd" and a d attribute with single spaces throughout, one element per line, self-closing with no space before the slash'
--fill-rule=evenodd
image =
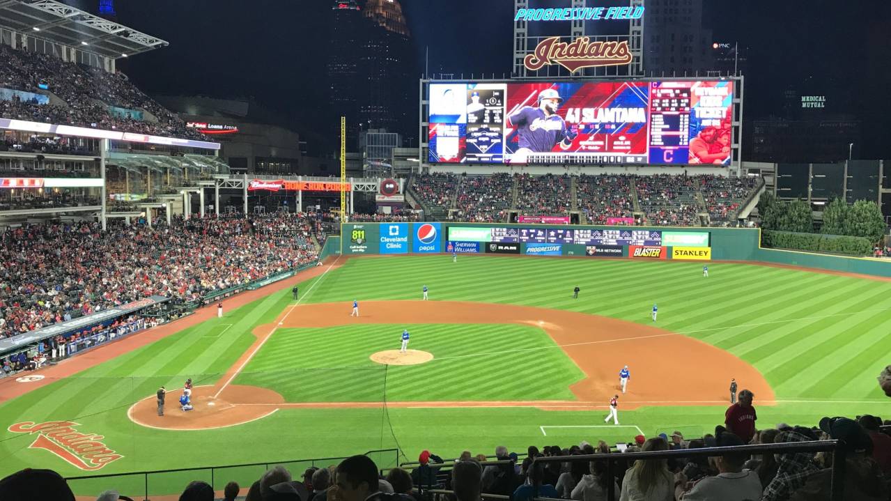
<path id="1" fill-rule="evenodd" d="M 69 3 L 91 12 L 98 4 Z M 419 71 L 429 48 L 431 73 L 501 78 L 510 72 L 510 0 L 401 3 Z M 705 3 L 704 23 L 715 40 L 749 47 L 747 121 L 779 114 L 788 86 L 828 94 L 832 111 L 863 121 L 861 157 L 891 158 L 891 133 L 884 128 L 891 113 L 891 3 Z M 119 67 L 149 94 L 253 97 L 281 111 L 294 127 L 312 127 L 326 109 L 321 76 L 330 6 L 329 0 L 119 0 L 119 22 L 170 43 Z"/>

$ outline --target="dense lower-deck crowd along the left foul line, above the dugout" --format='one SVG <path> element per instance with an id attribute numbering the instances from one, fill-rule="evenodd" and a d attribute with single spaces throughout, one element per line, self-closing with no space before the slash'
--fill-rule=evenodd
<path id="1" fill-rule="evenodd" d="M 0 337 L 151 295 L 200 301 L 318 259 L 303 217 L 175 218 L 171 226 L 57 223 L 0 241 Z"/>

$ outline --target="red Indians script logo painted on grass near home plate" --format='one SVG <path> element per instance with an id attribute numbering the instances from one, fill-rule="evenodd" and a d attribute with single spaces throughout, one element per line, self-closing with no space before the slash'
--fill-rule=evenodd
<path id="1" fill-rule="evenodd" d="M 37 439 L 28 448 L 44 448 L 61 457 L 69 464 L 88 472 L 102 469 L 106 464 L 124 457 L 102 443 L 102 435 L 78 433 L 73 421 L 47 421 L 46 423 L 12 424 L 8 428 L 13 433 L 37 433 Z"/>

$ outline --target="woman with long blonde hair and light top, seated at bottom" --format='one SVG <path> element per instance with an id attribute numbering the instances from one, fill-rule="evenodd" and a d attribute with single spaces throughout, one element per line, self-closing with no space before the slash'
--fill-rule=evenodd
<path id="1" fill-rule="evenodd" d="M 668 450 L 659 437 L 643 443 L 642 452 Z M 639 459 L 625 472 L 619 501 L 674 501 L 674 475 L 665 459 Z"/>

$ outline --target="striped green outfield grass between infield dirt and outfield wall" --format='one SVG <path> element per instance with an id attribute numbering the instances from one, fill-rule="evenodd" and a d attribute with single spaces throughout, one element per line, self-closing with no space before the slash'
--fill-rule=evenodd
<path id="1" fill-rule="evenodd" d="M 702 266 L 473 255 L 457 263 L 451 256 L 350 259 L 310 302 L 421 299 L 426 284 L 431 300 L 560 308 L 639 323 L 650 323 L 655 302 L 660 328 L 755 365 L 778 398 L 884 398 L 875 376 L 891 351 L 887 283 L 721 262 L 708 263 L 704 277 Z M 576 285 L 582 291 L 574 300 Z M 683 353 L 666 356 L 695 363 Z"/>

